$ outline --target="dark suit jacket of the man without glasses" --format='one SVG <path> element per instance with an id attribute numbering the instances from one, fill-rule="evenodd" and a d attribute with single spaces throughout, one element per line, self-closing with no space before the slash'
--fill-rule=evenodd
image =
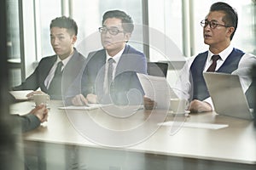
<path id="1" fill-rule="evenodd" d="M 26 78 L 25 82 L 22 82 L 20 86 L 13 88 L 13 90 L 41 90 L 48 94 L 48 89 L 44 85 L 44 80 L 49 74 L 52 66 L 55 64 L 57 55 L 44 57 L 40 60 L 38 67 L 35 71 Z M 85 58 L 82 54 L 74 49 L 74 54 L 72 58 L 67 62 L 67 65 L 64 67 L 63 76 L 62 76 L 62 96 L 66 95 L 66 92 L 70 90 L 73 86 L 75 78 L 79 75 L 79 72 L 82 71 Z M 51 99 L 60 99 L 60 96 L 50 96 Z"/>

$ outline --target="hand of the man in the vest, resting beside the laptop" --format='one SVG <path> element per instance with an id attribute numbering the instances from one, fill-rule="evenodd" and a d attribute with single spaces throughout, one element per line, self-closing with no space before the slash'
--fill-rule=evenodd
<path id="1" fill-rule="evenodd" d="M 205 101 L 200 101 L 198 99 L 194 99 L 190 102 L 189 111 L 191 113 L 212 111 L 212 105 L 208 104 Z"/>

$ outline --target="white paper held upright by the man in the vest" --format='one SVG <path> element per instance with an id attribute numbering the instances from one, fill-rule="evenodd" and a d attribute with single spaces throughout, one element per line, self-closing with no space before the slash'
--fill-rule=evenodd
<path id="1" fill-rule="evenodd" d="M 171 98 L 177 98 L 166 77 L 154 77 L 137 73 L 145 95 L 157 103 L 158 108 L 168 108 Z"/>

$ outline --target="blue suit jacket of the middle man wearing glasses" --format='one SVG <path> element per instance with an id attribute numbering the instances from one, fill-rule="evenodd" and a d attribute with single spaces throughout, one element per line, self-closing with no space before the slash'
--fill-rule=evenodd
<path id="1" fill-rule="evenodd" d="M 82 94 L 85 97 L 87 94 L 96 94 L 100 103 L 141 104 L 144 92 L 137 72 L 147 74 L 145 55 L 130 45 L 125 45 L 125 50 L 116 66 L 110 96 L 105 94 L 103 89 L 106 57 L 105 49 L 91 52 L 88 55 L 80 81 Z M 67 103 L 70 104 L 68 99 Z"/>

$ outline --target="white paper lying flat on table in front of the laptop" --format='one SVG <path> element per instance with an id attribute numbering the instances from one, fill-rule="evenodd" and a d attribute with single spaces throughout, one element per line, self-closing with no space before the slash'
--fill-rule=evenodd
<path id="1" fill-rule="evenodd" d="M 180 125 L 180 123 L 177 123 Z M 169 122 L 162 122 L 159 123 L 160 126 L 175 126 L 175 122 L 169 121 Z M 184 122 L 183 127 L 192 127 L 192 128 L 206 128 L 206 129 L 212 129 L 217 130 L 224 127 L 229 127 L 228 124 L 212 124 L 212 123 L 202 123 L 202 122 Z"/>

